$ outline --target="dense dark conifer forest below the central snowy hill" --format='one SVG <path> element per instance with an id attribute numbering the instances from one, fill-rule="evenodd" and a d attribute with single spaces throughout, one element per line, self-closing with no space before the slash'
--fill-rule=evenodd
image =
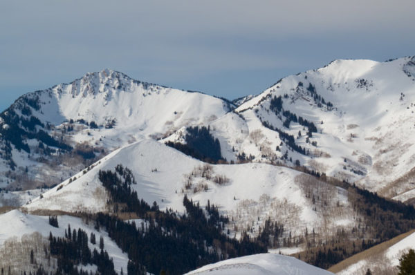
<path id="1" fill-rule="evenodd" d="M 100 171 L 99 178 L 111 194 L 112 202 L 123 205 L 118 210 L 133 212 L 143 222 L 136 225 L 115 216 L 98 214 L 95 227 L 107 231 L 128 253 L 129 274 L 137 270 L 183 274 L 226 258 L 267 251 L 265 245 L 246 234 L 241 240 L 224 234 L 223 227 L 228 219 L 219 215 L 214 205 L 203 211 L 199 203 L 185 196 L 186 211 L 181 215 L 171 209 L 160 211 L 156 202 L 150 206 L 139 200 L 137 192 L 131 189 L 135 179 L 128 171 L 118 166 L 116 171 Z"/>

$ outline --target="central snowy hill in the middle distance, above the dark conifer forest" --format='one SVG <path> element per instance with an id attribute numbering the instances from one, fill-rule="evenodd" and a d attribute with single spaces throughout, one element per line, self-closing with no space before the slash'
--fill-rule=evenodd
<path id="1" fill-rule="evenodd" d="M 256 234 L 267 218 L 284 223 L 286 234 L 291 230 L 293 236 L 301 236 L 307 228 L 334 234 L 339 227 L 352 228 L 358 218 L 347 199 L 347 191 L 304 173 L 270 164 L 207 165 L 154 140 L 118 149 L 90 171 L 75 175 L 76 180 L 62 182 L 24 209 L 33 213 L 43 209 L 107 211 L 107 193 L 98 179 L 98 171 L 114 171 L 117 164 L 133 171 L 138 183 L 131 187 L 139 198 L 149 204 L 156 201 L 160 209 L 183 211 L 185 193 L 202 206 L 210 200 L 233 218 L 229 225 L 231 234 L 239 235 L 248 227 Z M 201 176 L 203 169 L 208 169 L 210 178 Z M 217 184 L 215 176 L 228 180 Z M 190 186 L 186 187 L 187 184 Z M 311 200 L 313 194 L 321 198 L 315 205 Z M 337 202 L 340 207 L 336 206 Z"/>

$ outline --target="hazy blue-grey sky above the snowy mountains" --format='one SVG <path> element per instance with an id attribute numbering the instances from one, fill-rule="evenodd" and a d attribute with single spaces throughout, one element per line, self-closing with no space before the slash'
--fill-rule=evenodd
<path id="1" fill-rule="evenodd" d="M 338 58 L 415 55 L 415 1 L 1 0 L 0 110 L 113 68 L 234 99 Z"/>

